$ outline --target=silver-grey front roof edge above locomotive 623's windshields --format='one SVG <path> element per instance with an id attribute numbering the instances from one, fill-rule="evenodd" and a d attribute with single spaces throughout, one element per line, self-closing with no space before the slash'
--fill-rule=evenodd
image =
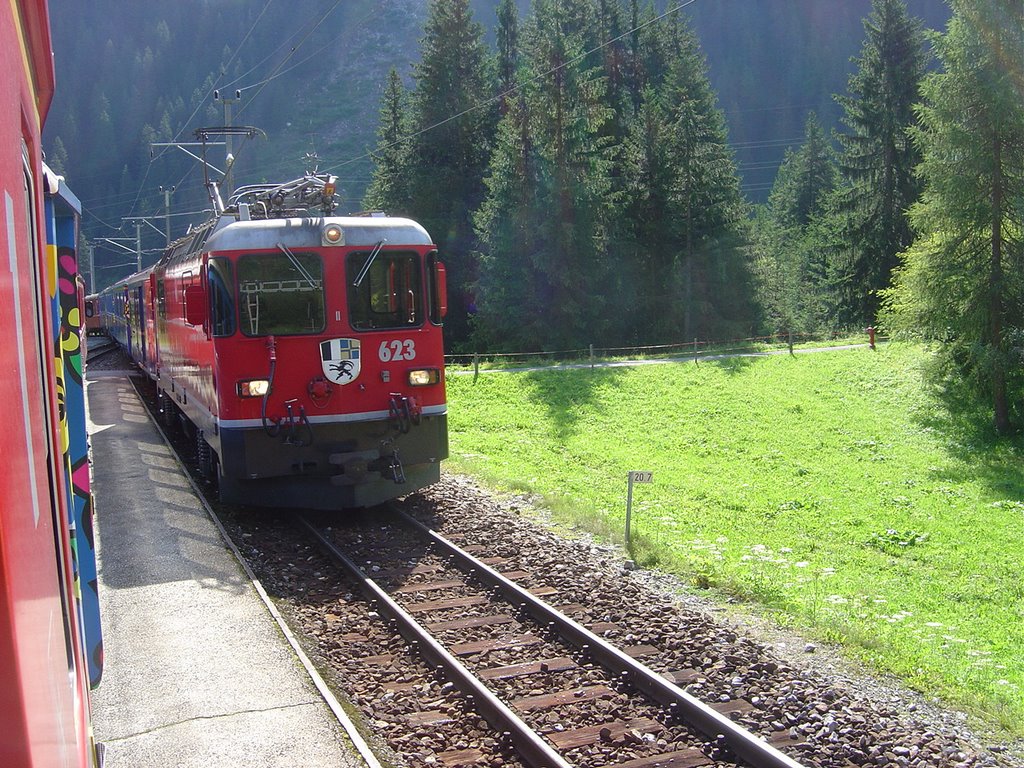
<path id="1" fill-rule="evenodd" d="M 206 241 L 204 250 L 238 251 L 268 249 L 282 244 L 288 248 L 317 248 L 323 245 L 324 229 L 339 226 L 338 245 L 375 246 L 381 241 L 389 246 L 427 246 L 433 241 L 412 219 L 392 216 L 305 216 L 236 220 L 221 217 Z"/>

